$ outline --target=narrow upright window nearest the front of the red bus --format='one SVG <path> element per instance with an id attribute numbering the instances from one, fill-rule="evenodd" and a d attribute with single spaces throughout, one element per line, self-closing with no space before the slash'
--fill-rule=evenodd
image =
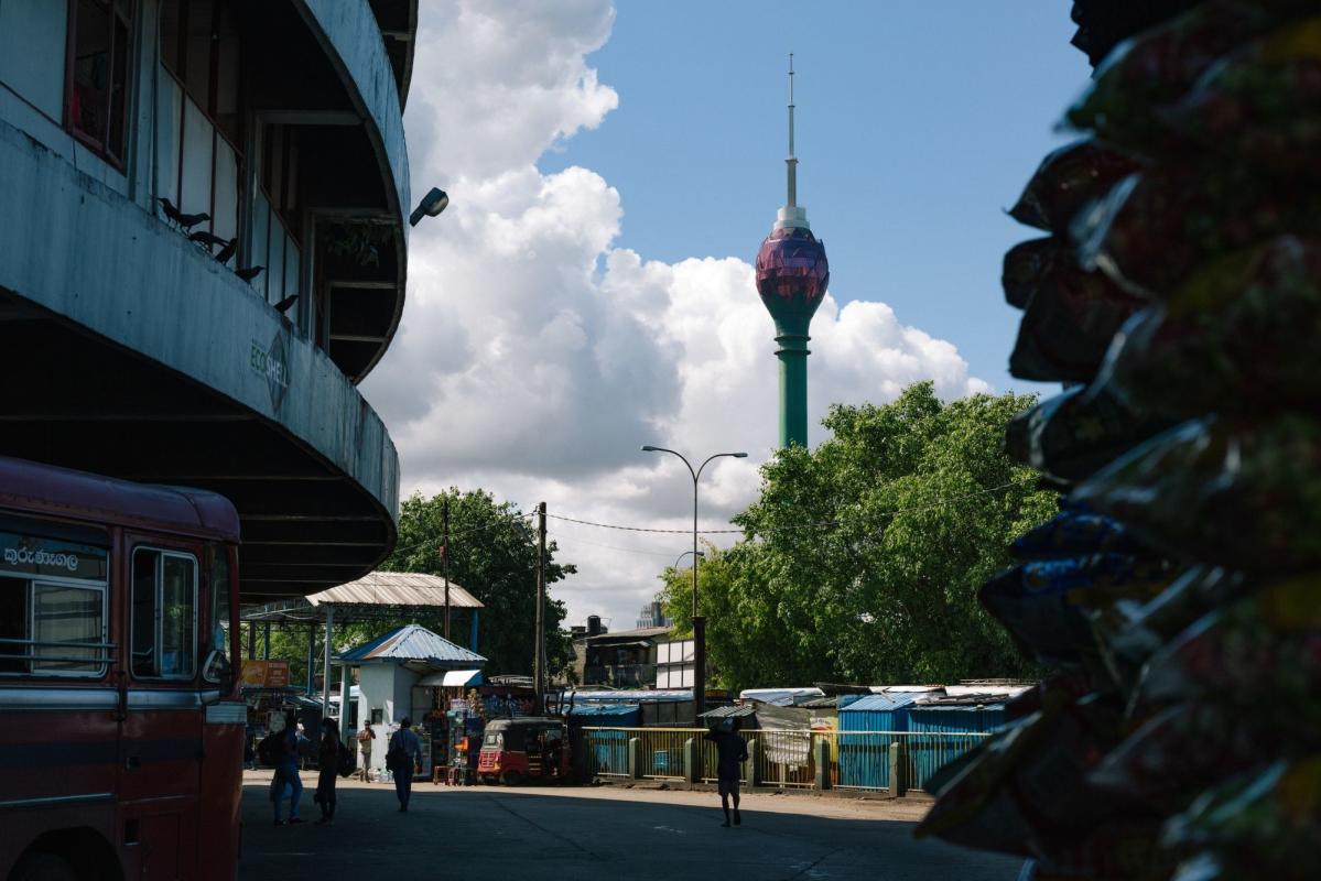
<path id="1" fill-rule="evenodd" d="M 197 557 L 133 549 L 132 670 L 139 679 L 192 679 L 197 664 Z"/>

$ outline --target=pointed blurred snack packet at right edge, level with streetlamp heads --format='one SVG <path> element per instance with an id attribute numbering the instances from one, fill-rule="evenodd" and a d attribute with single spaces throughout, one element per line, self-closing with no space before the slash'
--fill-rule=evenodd
<path id="1" fill-rule="evenodd" d="M 1321 424 L 1194 419 L 1132 449 L 1073 501 L 1172 556 L 1234 569 L 1321 568 Z"/>

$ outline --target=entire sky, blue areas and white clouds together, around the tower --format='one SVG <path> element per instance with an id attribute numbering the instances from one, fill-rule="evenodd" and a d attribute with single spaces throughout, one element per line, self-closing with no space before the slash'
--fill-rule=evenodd
<path id="1" fill-rule="evenodd" d="M 569 621 L 631 623 L 690 547 L 691 482 L 642 444 L 720 460 L 703 528 L 777 441 L 757 247 L 785 199 L 787 53 L 799 201 L 831 256 L 808 441 L 831 403 L 1007 372 L 1004 215 L 1090 70 L 1067 0 L 424 0 L 404 125 L 413 190 L 400 332 L 363 391 L 402 490 L 483 487 L 552 519 Z M 721 535 L 717 540 L 729 540 Z"/>

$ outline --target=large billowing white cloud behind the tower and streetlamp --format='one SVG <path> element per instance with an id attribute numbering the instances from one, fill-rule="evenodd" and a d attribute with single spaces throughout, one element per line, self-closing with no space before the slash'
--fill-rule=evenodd
<path id="1" fill-rule="evenodd" d="M 404 494 L 482 486 L 524 510 L 544 499 L 552 514 L 682 531 L 687 472 L 638 446 L 746 450 L 703 476 L 703 527 L 721 528 L 775 442 L 775 346 L 752 267 L 617 248 L 624 197 L 592 170 L 535 165 L 618 104 L 585 61 L 613 20 L 606 0 L 424 3 L 406 124 L 413 180 L 443 182 L 452 202 L 413 232 L 403 326 L 363 391 L 399 446 Z M 811 347 L 812 442 L 832 402 L 888 400 L 923 378 L 946 398 L 988 390 L 884 302 L 827 297 Z M 600 613 L 616 629 L 691 547 L 555 519 L 551 532 L 580 567 L 555 589 L 571 621 Z"/>

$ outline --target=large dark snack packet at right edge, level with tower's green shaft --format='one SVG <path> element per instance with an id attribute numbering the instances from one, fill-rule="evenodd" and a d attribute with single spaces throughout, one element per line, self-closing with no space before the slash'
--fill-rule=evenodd
<path id="1" fill-rule="evenodd" d="M 1206 265 L 1116 334 L 1098 374 L 1168 416 L 1309 409 L 1321 400 L 1321 242 L 1283 236 Z"/>

